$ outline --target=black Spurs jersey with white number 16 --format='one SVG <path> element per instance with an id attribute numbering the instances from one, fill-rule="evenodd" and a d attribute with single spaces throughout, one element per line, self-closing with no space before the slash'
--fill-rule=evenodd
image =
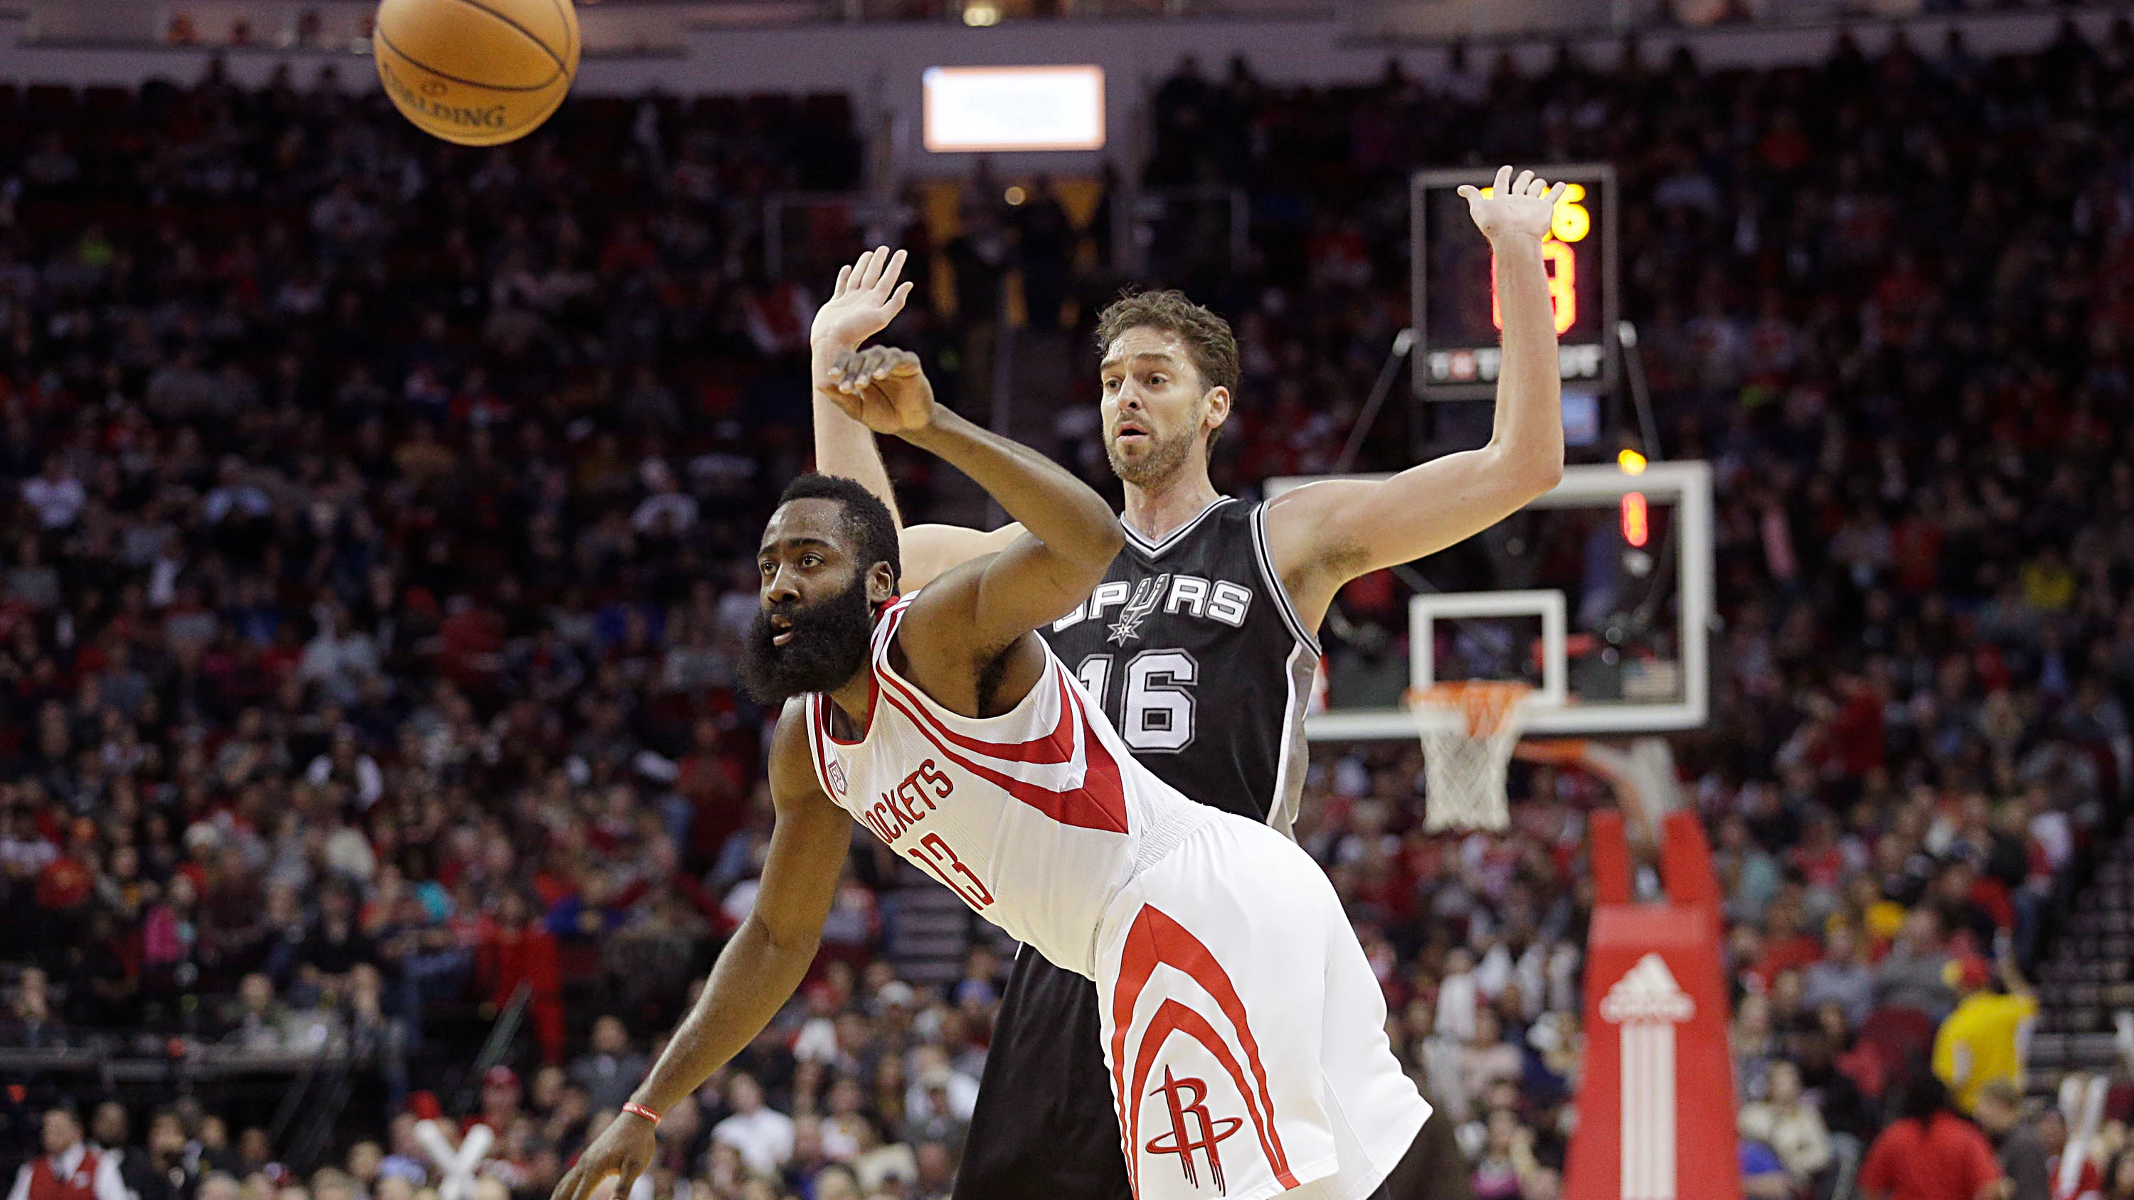
<path id="1" fill-rule="evenodd" d="M 1268 505 L 1223 497 L 1163 541 L 1127 526 L 1097 590 L 1037 633 L 1163 782 L 1289 833 L 1319 639 L 1274 573 Z"/>

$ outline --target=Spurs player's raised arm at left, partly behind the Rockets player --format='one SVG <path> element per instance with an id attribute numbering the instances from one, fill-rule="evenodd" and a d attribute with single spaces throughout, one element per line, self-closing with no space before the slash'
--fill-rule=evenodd
<path id="1" fill-rule="evenodd" d="M 830 369 L 860 350 L 869 337 L 890 328 L 896 313 L 905 311 L 911 283 L 898 283 L 905 271 L 905 252 L 890 254 L 881 245 L 860 254 L 851 266 L 841 266 L 830 301 L 815 311 L 809 330 L 809 352 L 813 358 L 813 422 L 815 422 L 815 469 L 826 475 L 858 480 L 881 503 L 890 505 L 890 516 L 903 524 L 896 507 L 890 473 L 881 465 L 881 448 L 875 445 L 875 431 L 845 416 L 845 409 L 830 396 L 834 377 Z M 982 554 L 1005 550 L 1020 524 L 1005 524 L 992 533 L 965 529 L 960 524 L 913 524 L 903 531 L 901 548 L 905 575 L 898 590 L 915 593 L 930 584 L 941 571 L 958 563 L 969 563 Z"/>

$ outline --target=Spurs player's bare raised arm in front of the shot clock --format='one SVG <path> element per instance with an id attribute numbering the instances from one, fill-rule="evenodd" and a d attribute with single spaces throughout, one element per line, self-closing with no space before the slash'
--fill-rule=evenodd
<path id="1" fill-rule="evenodd" d="M 1496 254 L 1504 358 L 1496 428 L 1481 450 L 1411 467 L 1391 480 L 1325 480 L 1268 505 L 1276 571 L 1306 622 L 1325 616 L 1349 580 L 1436 554 L 1504 520 L 1564 477 L 1562 369 L 1541 241 L 1564 185 L 1532 171 L 1496 173 L 1483 196 L 1462 188 L 1468 213 Z"/>

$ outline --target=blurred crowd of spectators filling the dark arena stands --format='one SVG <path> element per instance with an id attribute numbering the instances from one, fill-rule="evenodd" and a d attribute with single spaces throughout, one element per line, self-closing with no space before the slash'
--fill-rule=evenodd
<path id="1" fill-rule="evenodd" d="M 1157 96 L 1144 183 L 1251 200 L 1244 262 L 1189 239 L 1159 279 L 1238 326 L 1240 494 L 1349 437 L 1406 322 L 1406 171 L 1622 171 L 1662 441 L 1718 471 L 1716 716 L 1675 757 L 1752 1196 L 1891 1191 L 1946 1134 L 1929 1061 L 2047 1196 L 2023 1032 L 2125 980 L 2068 912 L 2123 880 L 2134 784 L 2130 117 L 2125 23 L 1349 90 L 1187 62 Z M 768 831 L 732 665 L 828 279 L 766 269 L 758 200 L 858 179 L 841 96 L 585 98 L 476 153 L 331 75 L 0 90 L 0 1049 L 226 1070 L 6 1081 L 11 1200 L 87 1142 L 96 1200 L 427 1200 L 423 1117 L 489 1123 L 474 1194 L 534 1200 L 627 1098 Z M 980 405 L 999 288 L 1076 337 L 1116 290 L 1110 202 L 982 173 L 954 228 L 905 213 L 933 303 L 890 337 Z M 1048 450 L 1101 480 L 1093 399 Z M 892 469 L 935 512 L 926 463 Z M 1332 669 L 1404 661 L 1402 601 L 1353 584 Z M 1554 1200 L 1613 799 L 1522 767 L 1507 836 L 1426 836 L 1419 778 L 1321 746 L 1300 840 L 1477 1196 Z M 854 846 L 817 972 L 668 1115 L 640 1200 L 947 1194 L 1012 946 Z M 245 1061 L 337 1064 L 337 1117 Z M 2115 1200 L 2128 1100 L 2081 1177 Z"/>

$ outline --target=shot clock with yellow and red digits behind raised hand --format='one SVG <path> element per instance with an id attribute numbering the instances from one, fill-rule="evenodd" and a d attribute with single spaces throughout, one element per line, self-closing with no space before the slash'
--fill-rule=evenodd
<path id="1" fill-rule="evenodd" d="M 1615 168 L 1536 166 L 1566 183 L 1541 260 L 1556 309 L 1564 392 L 1605 394 L 1615 382 Z M 1415 237 L 1415 396 L 1477 401 L 1496 394 L 1500 364 L 1496 258 L 1458 188 L 1487 190 L 1490 171 L 1419 171 L 1408 188 Z"/>

